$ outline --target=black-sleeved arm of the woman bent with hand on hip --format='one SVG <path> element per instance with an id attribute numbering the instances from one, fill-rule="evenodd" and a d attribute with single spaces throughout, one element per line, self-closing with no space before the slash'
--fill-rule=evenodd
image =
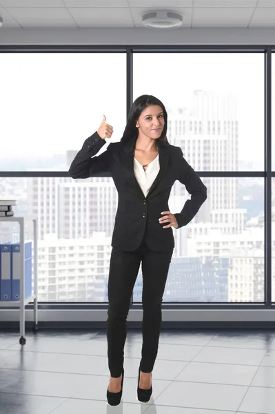
<path id="1" fill-rule="evenodd" d="M 185 185 L 188 193 L 191 194 L 191 199 L 185 201 L 181 213 L 174 214 L 176 221 L 179 224 L 179 227 L 176 228 L 181 228 L 190 223 L 190 221 L 195 217 L 196 213 L 198 213 L 201 205 L 207 199 L 207 188 L 203 184 L 203 181 L 201 181 L 200 177 L 198 177 L 196 172 L 183 157 L 181 148 L 179 148 L 179 150 L 181 159 L 179 160 L 180 166 L 178 179 L 181 184 Z"/>

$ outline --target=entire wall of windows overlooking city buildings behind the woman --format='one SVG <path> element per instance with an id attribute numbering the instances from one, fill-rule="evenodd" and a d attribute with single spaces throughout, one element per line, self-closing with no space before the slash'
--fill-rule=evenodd
<path id="1" fill-rule="evenodd" d="M 195 170 L 263 171 L 263 53 L 139 52 L 133 61 L 134 99 L 149 93 L 163 101 L 169 108 L 168 140 L 181 146 Z M 169 66 L 163 77 L 155 68 L 165 61 Z M 1 170 L 67 171 L 103 113 L 114 126 L 112 141 L 121 139 L 126 121 L 125 52 L 2 53 L 0 77 L 6 79 L 0 102 L 6 142 Z M 96 89 L 102 83 L 108 99 Z M 14 103 L 15 95 L 28 101 Z M 263 302 L 264 179 L 203 181 L 208 199 L 180 230 L 183 239 L 172 257 L 163 302 Z M 0 197 L 6 193 L 18 199 L 17 215 L 35 214 L 39 221 L 39 301 L 108 302 L 110 236 L 118 201 L 112 179 L 2 177 Z M 179 211 L 178 201 L 183 206 L 189 197 L 176 181 L 171 210 Z M 30 228 L 26 232 L 32 238 Z M 0 238 L 6 241 L 7 235 L 16 240 L 19 228 L 0 224 Z M 141 302 L 141 270 L 134 301 Z"/>

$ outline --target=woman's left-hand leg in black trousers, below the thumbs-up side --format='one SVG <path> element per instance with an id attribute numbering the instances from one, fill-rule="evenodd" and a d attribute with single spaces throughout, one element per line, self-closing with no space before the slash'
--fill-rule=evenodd
<path id="1" fill-rule="evenodd" d="M 126 340 L 126 319 L 141 255 L 139 249 L 134 252 L 112 250 L 108 280 L 108 362 L 111 377 L 120 377 Z"/>

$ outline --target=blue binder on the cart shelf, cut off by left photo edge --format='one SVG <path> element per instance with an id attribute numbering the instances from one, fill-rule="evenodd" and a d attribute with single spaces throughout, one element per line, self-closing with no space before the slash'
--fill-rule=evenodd
<path id="1" fill-rule="evenodd" d="M 10 243 L 0 244 L 0 299 L 3 301 L 12 300 L 11 250 Z"/>

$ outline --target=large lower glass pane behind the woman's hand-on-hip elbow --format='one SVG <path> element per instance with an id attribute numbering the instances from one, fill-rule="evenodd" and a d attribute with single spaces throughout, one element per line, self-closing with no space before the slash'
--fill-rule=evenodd
<path id="1" fill-rule="evenodd" d="M 208 198 L 186 227 L 173 228 L 175 248 L 163 302 L 263 302 L 264 182 L 203 178 Z M 190 195 L 176 181 L 169 206 L 179 213 Z M 141 269 L 134 302 L 141 302 Z"/>

